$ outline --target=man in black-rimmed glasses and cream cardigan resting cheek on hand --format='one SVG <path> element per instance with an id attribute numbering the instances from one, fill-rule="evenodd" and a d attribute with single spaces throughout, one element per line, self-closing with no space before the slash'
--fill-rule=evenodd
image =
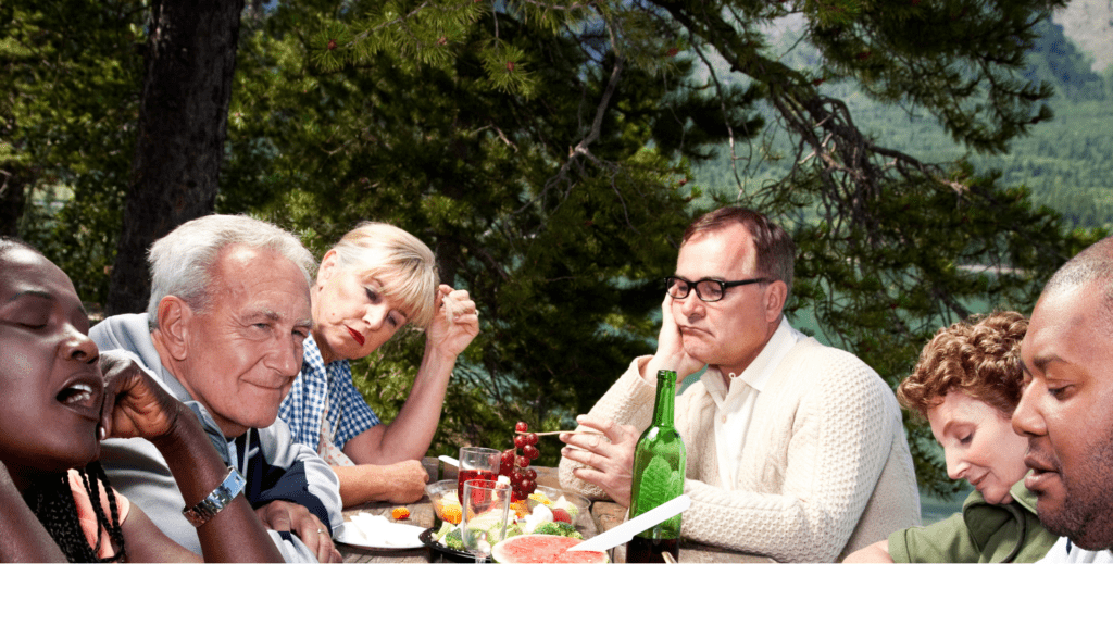
<path id="1" fill-rule="evenodd" d="M 686 539 L 779 561 L 834 561 L 919 525 L 900 410 L 859 359 L 792 329 L 796 245 L 764 215 L 723 207 L 684 232 L 664 281 L 658 350 L 636 359 L 574 433 L 561 485 L 629 506 L 633 449 L 658 370 L 683 380 Z"/>

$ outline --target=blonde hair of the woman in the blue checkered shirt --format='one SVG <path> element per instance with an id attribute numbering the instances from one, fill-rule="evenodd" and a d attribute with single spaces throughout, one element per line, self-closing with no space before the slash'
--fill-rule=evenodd
<path id="1" fill-rule="evenodd" d="M 433 251 L 410 233 L 382 222 L 364 222 L 333 247 L 336 264 L 383 283 L 383 295 L 400 301 L 408 321 L 427 329 L 441 283 Z"/>

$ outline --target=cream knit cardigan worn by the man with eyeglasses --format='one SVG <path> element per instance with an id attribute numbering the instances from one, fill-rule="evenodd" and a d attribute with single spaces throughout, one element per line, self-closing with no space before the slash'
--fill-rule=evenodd
<path id="1" fill-rule="evenodd" d="M 593 417 L 639 430 L 650 424 L 654 387 L 639 374 L 642 359 L 595 403 Z M 810 338 L 792 348 L 758 397 L 731 488 L 719 479 L 719 417 L 702 380 L 677 399 L 676 426 L 688 452 L 684 492 L 692 498 L 684 537 L 778 561 L 829 563 L 919 525 L 896 398 L 853 354 Z M 605 498 L 572 475 L 575 467 L 561 460 L 561 485 Z"/>

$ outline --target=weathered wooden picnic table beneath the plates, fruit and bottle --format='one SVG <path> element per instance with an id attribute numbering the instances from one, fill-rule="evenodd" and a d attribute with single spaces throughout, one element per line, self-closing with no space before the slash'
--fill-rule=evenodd
<path id="1" fill-rule="evenodd" d="M 435 480 L 446 480 L 456 478 L 456 468 L 442 463 L 434 458 L 425 458 L 422 461 L 425 470 L 429 471 L 430 482 Z M 560 480 L 556 477 L 556 468 L 534 467 L 538 471 L 538 485 L 560 488 Z M 390 502 L 368 502 L 359 507 L 344 509 L 344 519 L 361 512 L 372 515 L 387 515 L 398 505 Z M 421 500 L 405 505 L 410 509 L 410 519 L 397 524 L 412 524 L 422 528 L 436 527 L 437 519 L 433 513 L 433 503 L 427 496 Z M 583 534 L 584 538 L 607 531 L 622 522 L 626 517 L 626 507 L 608 500 L 598 500 L 591 503 L 591 515 L 581 515 L 575 521 L 577 529 Z M 344 563 L 431 563 L 431 556 L 440 560 L 437 555 L 431 555 L 430 549 L 422 546 L 402 550 L 368 549 L 346 544 L 336 544 L 336 548 L 344 557 Z M 626 561 L 626 548 L 619 546 L 611 550 L 611 560 L 614 563 Z M 682 539 L 680 541 L 680 563 L 775 563 L 768 557 L 736 552 L 723 548 L 708 546 L 696 541 Z"/>

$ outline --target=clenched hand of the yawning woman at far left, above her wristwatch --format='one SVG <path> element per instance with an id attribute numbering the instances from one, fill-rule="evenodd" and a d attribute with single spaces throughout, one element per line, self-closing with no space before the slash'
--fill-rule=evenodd
<path id="1" fill-rule="evenodd" d="M 100 426 L 107 437 L 158 438 L 174 429 L 180 410 L 189 410 L 127 356 L 102 352 L 100 370 Z"/>

